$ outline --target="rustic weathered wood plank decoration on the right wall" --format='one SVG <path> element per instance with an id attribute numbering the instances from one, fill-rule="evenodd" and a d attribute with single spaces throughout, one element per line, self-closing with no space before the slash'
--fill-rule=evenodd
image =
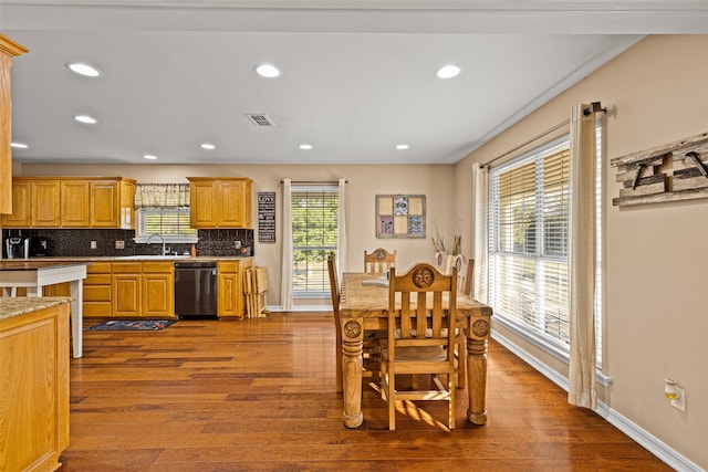
<path id="1" fill-rule="evenodd" d="M 708 133 L 610 161 L 622 182 L 615 207 L 708 198 Z"/>

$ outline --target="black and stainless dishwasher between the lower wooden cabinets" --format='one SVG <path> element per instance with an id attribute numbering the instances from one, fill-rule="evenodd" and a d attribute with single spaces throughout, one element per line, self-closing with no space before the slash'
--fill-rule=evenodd
<path id="1" fill-rule="evenodd" d="M 175 263 L 175 314 L 180 318 L 217 316 L 216 262 Z"/>

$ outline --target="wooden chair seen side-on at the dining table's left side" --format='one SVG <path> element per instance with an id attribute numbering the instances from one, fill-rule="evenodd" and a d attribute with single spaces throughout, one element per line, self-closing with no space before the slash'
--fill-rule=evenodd
<path id="1" fill-rule="evenodd" d="M 332 294 L 332 313 L 334 315 L 335 349 L 336 349 L 336 391 L 344 390 L 342 379 L 342 326 L 340 323 L 340 280 L 336 272 L 336 259 L 333 252 L 327 254 L 327 272 L 330 274 L 330 293 Z M 364 364 L 362 377 L 378 377 L 381 363 L 381 345 L 376 333 L 365 333 L 363 344 Z"/>

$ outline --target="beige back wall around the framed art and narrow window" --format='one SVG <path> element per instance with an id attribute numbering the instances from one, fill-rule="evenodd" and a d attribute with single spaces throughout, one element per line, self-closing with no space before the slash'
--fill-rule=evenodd
<path id="1" fill-rule="evenodd" d="M 433 262 L 430 234 L 435 225 L 451 237 L 452 166 L 274 166 L 274 165 L 30 165 L 15 166 L 15 175 L 24 176 L 122 176 L 138 182 L 183 182 L 186 177 L 244 176 L 253 179 L 253 214 L 256 192 L 275 191 L 278 203 L 275 244 L 258 243 L 254 234 L 254 262 L 269 270 L 269 305 L 280 305 L 282 253 L 282 197 L 280 181 L 347 179 L 346 229 L 348 270 L 362 271 L 364 251 L 383 247 L 398 251 L 399 266 L 407 269 L 418 261 Z M 427 234 L 425 239 L 376 239 L 375 198 L 377 193 L 421 193 L 426 196 Z M 257 223 L 254 222 L 254 225 Z M 329 301 L 325 301 L 329 304 Z M 314 304 L 310 301 L 306 304 Z"/>

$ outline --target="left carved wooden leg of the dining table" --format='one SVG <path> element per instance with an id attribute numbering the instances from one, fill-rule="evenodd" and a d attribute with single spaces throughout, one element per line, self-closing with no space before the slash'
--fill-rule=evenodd
<path id="1" fill-rule="evenodd" d="M 344 426 L 362 424 L 362 367 L 364 336 L 358 319 L 342 319 L 342 376 L 344 380 Z"/>

